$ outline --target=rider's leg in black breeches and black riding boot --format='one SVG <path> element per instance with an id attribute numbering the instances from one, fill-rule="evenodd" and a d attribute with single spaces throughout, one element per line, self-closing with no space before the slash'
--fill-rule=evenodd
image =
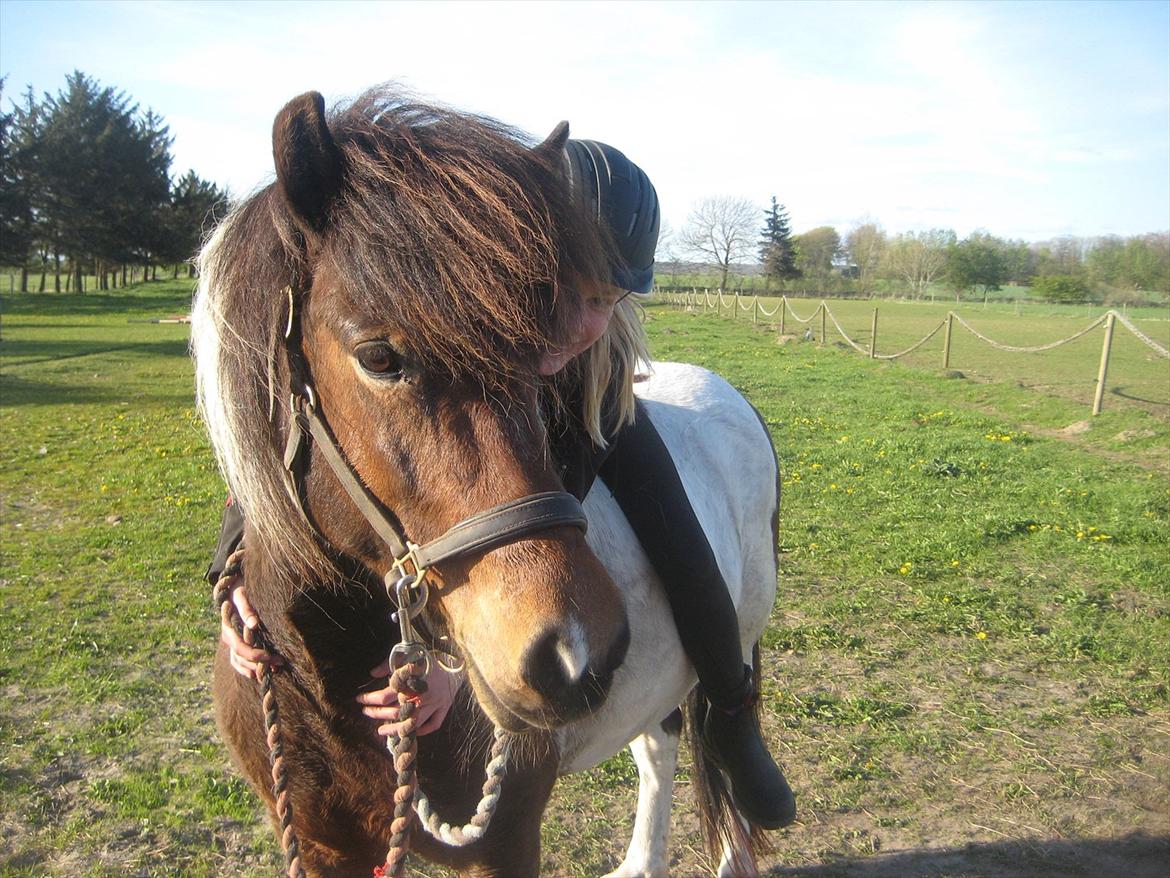
<path id="1" fill-rule="evenodd" d="M 704 749 L 748 819 L 766 829 L 787 825 L 796 800 L 759 734 L 752 709 L 758 690 L 739 649 L 735 605 L 670 453 L 641 405 L 599 474 L 662 578 L 679 637 L 713 705 Z"/>

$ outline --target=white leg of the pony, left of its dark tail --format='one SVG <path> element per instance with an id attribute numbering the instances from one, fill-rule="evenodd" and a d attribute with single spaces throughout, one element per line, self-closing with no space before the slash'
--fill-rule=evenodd
<path id="1" fill-rule="evenodd" d="M 674 771 L 679 764 L 682 713 L 675 711 L 662 722 L 629 742 L 638 764 L 638 814 L 626 859 L 605 878 L 666 878 L 669 869 L 670 803 Z"/>

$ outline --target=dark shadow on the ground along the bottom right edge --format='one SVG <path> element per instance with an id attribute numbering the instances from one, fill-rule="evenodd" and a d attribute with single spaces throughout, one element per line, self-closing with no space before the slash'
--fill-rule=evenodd
<path id="1" fill-rule="evenodd" d="M 1135 832 L 1119 838 L 1052 838 L 896 851 L 815 866 L 777 866 L 793 878 L 1165 878 L 1170 836 Z"/>

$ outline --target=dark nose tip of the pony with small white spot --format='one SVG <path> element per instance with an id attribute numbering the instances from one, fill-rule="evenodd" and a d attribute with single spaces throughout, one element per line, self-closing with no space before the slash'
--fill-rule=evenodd
<path id="1" fill-rule="evenodd" d="M 576 622 L 548 629 L 524 652 L 521 677 L 541 695 L 548 711 L 570 722 L 597 709 L 610 692 L 613 674 L 629 649 L 629 622 L 614 638 L 590 654 L 584 631 Z"/>

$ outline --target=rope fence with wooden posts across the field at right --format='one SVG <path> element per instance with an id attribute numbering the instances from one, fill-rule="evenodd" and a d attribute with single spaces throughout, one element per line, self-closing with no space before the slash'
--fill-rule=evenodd
<path id="1" fill-rule="evenodd" d="M 1003 342 L 997 342 L 994 338 L 990 338 L 979 330 L 977 330 L 975 327 L 972 327 L 970 323 L 963 320 L 963 317 L 956 314 L 955 311 L 947 311 L 947 316 L 943 317 L 938 322 L 938 324 L 935 325 L 934 329 L 931 329 L 922 338 L 920 338 L 917 342 L 911 344 L 906 350 L 897 351 L 896 354 L 879 354 L 876 308 L 874 308 L 873 313 L 873 324 L 869 332 L 869 345 L 866 347 L 855 338 L 852 338 L 849 334 L 845 331 L 845 328 L 841 327 L 840 321 L 838 321 L 837 316 L 830 309 L 828 302 L 826 302 L 825 300 L 820 301 L 820 303 L 817 306 L 817 309 L 811 315 L 808 315 L 807 317 L 801 317 L 792 308 L 792 304 L 789 302 L 787 296 L 780 296 L 779 303 L 776 304 L 776 307 L 772 308 L 771 311 L 769 311 L 759 301 L 758 295 L 742 296 L 738 293 L 736 293 L 731 296 L 727 296 L 722 290 L 716 290 L 713 297 L 711 294 L 706 289 L 702 291 L 693 290 L 690 293 L 686 291 L 662 293 L 661 295 L 668 304 L 681 307 L 687 310 L 695 310 L 696 308 L 700 308 L 703 311 L 715 311 L 716 314 L 723 314 L 723 310 L 728 309 L 731 314 L 732 320 L 736 320 L 739 313 L 750 311 L 752 323 L 759 323 L 760 315 L 763 315 L 769 320 L 778 315 L 779 329 L 782 335 L 787 329 L 787 320 L 790 317 L 800 324 L 812 324 L 813 321 L 815 321 L 817 317 L 819 316 L 820 317 L 819 341 L 821 344 L 825 344 L 828 341 L 827 324 L 831 322 L 833 324 L 833 328 L 837 330 L 838 335 L 840 335 L 841 338 L 845 339 L 846 344 L 848 344 L 859 354 L 863 354 L 865 356 L 869 357 L 870 359 L 886 359 L 886 361 L 899 359 L 922 348 L 922 345 L 924 345 L 927 342 L 929 342 L 931 338 L 938 335 L 940 330 L 945 330 L 943 334 L 943 369 L 950 369 L 951 338 L 954 335 L 955 323 L 958 323 L 958 325 L 961 325 L 968 332 L 973 335 L 980 342 L 991 345 L 996 350 L 1002 350 L 1009 354 L 1039 354 L 1041 351 L 1053 350 L 1054 348 L 1060 348 L 1061 345 L 1075 342 L 1078 338 L 1082 338 L 1093 330 L 1103 325 L 1104 339 L 1102 341 L 1101 344 L 1101 362 L 1097 366 L 1096 387 L 1093 395 L 1093 414 L 1100 414 L 1102 405 L 1104 403 L 1104 383 L 1106 383 L 1106 376 L 1109 371 L 1109 355 L 1113 348 L 1113 334 L 1116 323 L 1121 323 L 1122 327 L 1128 329 L 1138 341 L 1141 341 L 1143 344 L 1150 348 L 1159 357 L 1170 359 L 1170 350 L 1163 348 L 1156 341 L 1154 341 L 1148 335 L 1142 332 L 1142 330 L 1140 330 L 1136 325 L 1134 325 L 1134 322 L 1129 320 L 1129 317 L 1127 317 L 1121 311 L 1116 310 L 1109 310 L 1106 314 L 1102 314 L 1100 317 L 1089 323 L 1089 325 L 1078 330 L 1076 332 L 1073 332 L 1073 335 L 1068 336 L 1067 338 L 1059 338 L 1054 342 L 1048 342 L 1047 344 L 1037 344 L 1028 347 L 1019 347 L 1013 344 L 1004 344 Z M 805 338 L 810 341 L 813 338 L 812 325 L 810 325 L 808 329 L 805 330 Z"/>

